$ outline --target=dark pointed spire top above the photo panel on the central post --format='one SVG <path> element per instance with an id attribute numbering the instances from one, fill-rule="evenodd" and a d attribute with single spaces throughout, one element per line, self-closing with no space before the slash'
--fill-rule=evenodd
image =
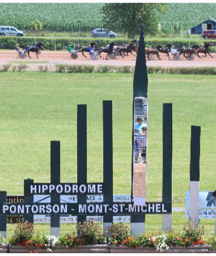
<path id="1" fill-rule="evenodd" d="M 143 27 L 140 29 L 139 48 L 133 78 L 133 97 L 147 98 L 148 76 L 145 58 Z"/>

